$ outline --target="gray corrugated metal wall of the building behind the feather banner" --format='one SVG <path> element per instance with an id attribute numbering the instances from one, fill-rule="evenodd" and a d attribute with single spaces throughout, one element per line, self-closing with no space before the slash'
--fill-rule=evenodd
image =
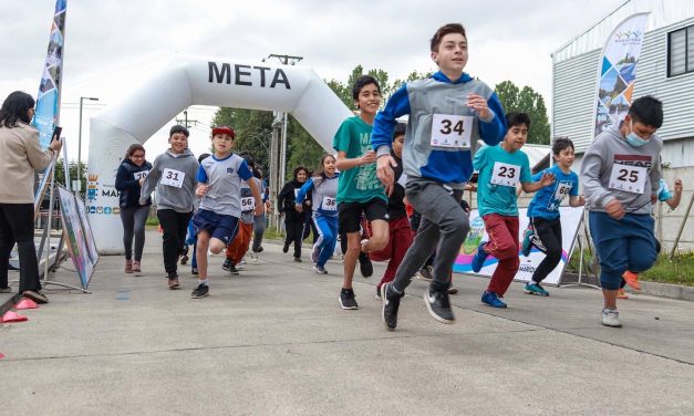
<path id="1" fill-rule="evenodd" d="M 665 122 L 659 134 L 665 141 L 694 136 L 694 73 L 667 77 L 667 33 L 693 24 L 691 18 L 653 30 L 643 42 L 634 96 L 651 94 L 663 101 Z M 600 52 L 571 58 L 552 69 L 552 135 L 569 136 L 577 152 L 584 150 L 593 138 Z M 685 152 L 671 163 L 672 167 L 694 166 L 694 153 Z"/>

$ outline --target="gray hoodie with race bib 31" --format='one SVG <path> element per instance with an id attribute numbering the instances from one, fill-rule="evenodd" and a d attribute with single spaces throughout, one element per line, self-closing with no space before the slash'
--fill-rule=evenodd
<path id="1" fill-rule="evenodd" d="M 160 154 L 154 159 L 152 170 L 142 184 L 139 204 L 145 202 L 156 187 L 157 210 L 193 211 L 199 167 L 198 160 L 188 149 L 180 155 L 170 149 Z"/>

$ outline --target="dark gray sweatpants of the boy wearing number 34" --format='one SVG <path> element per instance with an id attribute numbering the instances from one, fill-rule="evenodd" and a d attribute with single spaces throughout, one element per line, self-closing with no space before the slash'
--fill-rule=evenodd
<path id="1" fill-rule="evenodd" d="M 418 178 L 407 183 L 405 195 L 412 207 L 422 214 L 422 223 L 395 272 L 393 289 L 404 292 L 414 273 L 436 251 L 432 284 L 445 290 L 450 285 L 453 263 L 470 228 L 467 215 L 460 208 L 463 190 L 455 189 L 452 197 L 443 184 Z"/>

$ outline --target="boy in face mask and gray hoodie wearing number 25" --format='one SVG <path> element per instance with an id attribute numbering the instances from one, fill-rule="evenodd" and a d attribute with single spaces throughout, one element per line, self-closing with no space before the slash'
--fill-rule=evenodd
<path id="1" fill-rule="evenodd" d="M 662 176 L 663 141 L 655 134 L 662 125 L 663 104 L 652 96 L 638 98 L 619 127 L 595 137 L 581 164 L 605 326 L 622 326 L 617 311 L 622 274 L 645 271 L 656 260 L 651 205 Z"/>

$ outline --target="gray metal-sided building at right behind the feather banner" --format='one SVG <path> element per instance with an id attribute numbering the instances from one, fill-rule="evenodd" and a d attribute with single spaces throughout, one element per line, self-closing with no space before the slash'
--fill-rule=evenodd
<path id="1" fill-rule="evenodd" d="M 684 221 L 694 189 L 694 0 L 630 0 L 552 54 L 552 136 L 576 144 L 576 167 L 594 136 L 595 93 L 602 48 L 628 17 L 650 12 L 633 96 L 653 95 L 663 102 L 665 119 L 664 177 L 672 188 L 684 181 L 680 207 L 656 209 L 656 233 L 671 248 Z M 694 250 L 694 212 L 690 214 L 679 248 Z"/>

